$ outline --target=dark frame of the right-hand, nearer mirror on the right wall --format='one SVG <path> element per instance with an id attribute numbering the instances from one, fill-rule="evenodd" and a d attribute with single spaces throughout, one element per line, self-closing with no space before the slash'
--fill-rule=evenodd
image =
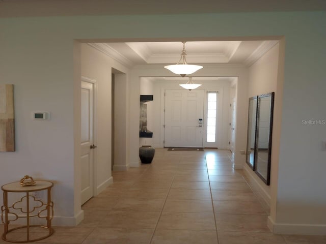
<path id="1" fill-rule="evenodd" d="M 273 135 L 273 112 L 274 112 L 274 96 L 275 93 L 268 93 L 258 96 L 257 99 L 257 116 L 256 116 L 256 138 L 255 138 L 255 164 L 254 164 L 254 171 L 256 174 L 261 178 L 262 181 L 265 182 L 267 186 L 270 184 L 270 160 L 271 160 L 271 137 Z M 270 97 L 270 111 L 269 111 L 269 133 L 268 133 L 268 159 L 267 159 L 267 177 L 265 178 L 257 171 L 258 163 L 257 163 L 257 154 L 258 154 L 258 140 L 259 140 L 259 116 L 260 116 L 260 99 Z"/>

